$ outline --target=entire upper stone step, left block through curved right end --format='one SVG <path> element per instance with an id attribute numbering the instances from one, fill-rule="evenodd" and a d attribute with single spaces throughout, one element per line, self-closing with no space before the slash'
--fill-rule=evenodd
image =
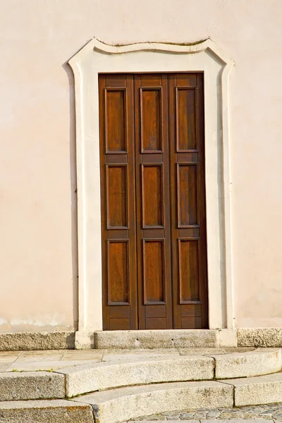
<path id="1" fill-rule="evenodd" d="M 281 371 L 281 350 L 224 355 L 126 357 L 55 372 L 0 373 L 0 401 L 71 398 L 121 386 L 259 376 Z"/>

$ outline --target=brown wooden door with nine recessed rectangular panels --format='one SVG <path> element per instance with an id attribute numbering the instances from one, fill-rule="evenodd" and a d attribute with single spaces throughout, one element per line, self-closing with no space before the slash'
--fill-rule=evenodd
<path id="1" fill-rule="evenodd" d="M 207 328 L 202 73 L 99 75 L 103 328 Z"/>

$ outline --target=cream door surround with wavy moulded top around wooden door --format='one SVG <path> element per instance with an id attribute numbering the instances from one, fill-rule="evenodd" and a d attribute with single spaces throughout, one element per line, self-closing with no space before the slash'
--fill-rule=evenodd
<path id="1" fill-rule="evenodd" d="M 233 61 L 206 39 L 111 46 L 92 39 L 68 61 L 75 75 L 78 331 L 102 330 L 99 73 L 204 72 L 209 329 L 233 329 L 228 78 Z"/>

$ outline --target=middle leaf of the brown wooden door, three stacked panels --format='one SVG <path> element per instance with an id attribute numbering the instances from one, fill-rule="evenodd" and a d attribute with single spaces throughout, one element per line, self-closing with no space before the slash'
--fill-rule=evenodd
<path id="1" fill-rule="evenodd" d="M 135 75 L 139 329 L 172 328 L 168 78 Z"/>

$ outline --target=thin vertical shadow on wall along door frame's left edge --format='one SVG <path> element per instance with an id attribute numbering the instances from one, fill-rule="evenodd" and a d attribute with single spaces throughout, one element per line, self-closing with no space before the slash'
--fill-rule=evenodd
<path id="1" fill-rule="evenodd" d="M 70 169 L 71 169 L 71 245 L 73 268 L 73 326 L 78 330 L 78 206 L 76 183 L 75 152 L 75 80 L 71 66 L 63 63 L 63 70 L 68 75 L 70 104 Z"/>

